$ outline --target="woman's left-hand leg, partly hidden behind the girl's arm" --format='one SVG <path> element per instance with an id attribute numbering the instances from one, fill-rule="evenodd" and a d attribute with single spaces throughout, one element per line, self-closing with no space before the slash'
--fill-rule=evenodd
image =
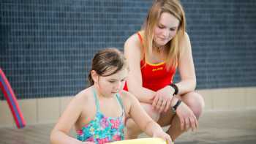
<path id="1" fill-rule="evenodd" d="M 146 110 L 146 113 L 148 113 L 148 115 L 151 116 L 151 118 L 154 119 L 154 121 L 157 121 L 159 119 L 159 113 L 153 110 L 151 105 L 146 103 L 140 103 L 140 105 L 143 106 L 144 110 Z M 135 121 L 132 120 L 132 118 L 127 119 L 126 127 L 127 132 L 125 134 L 125 139 L 135 139 L 142 132 L 139 126 L 135 124 Z"/>

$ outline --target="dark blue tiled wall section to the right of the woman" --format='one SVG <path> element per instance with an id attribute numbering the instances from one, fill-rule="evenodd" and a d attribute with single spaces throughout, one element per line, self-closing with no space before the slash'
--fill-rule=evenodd
<path id="1" fill-rule="evenodd" d="M 256 85 L 256 1 L 184 0 L 197 88 Z"/>

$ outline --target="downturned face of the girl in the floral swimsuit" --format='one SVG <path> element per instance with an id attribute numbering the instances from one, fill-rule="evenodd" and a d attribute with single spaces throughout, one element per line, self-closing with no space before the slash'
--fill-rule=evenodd
<path id="1" fill-rule="evenodd" d="M 107 77 L 98 76 L 98 88 L 103 96 L 113 96 L 124 88 L 124 82 L 127 79 L 128 69 L 121 69 L 114 75 Z"/>

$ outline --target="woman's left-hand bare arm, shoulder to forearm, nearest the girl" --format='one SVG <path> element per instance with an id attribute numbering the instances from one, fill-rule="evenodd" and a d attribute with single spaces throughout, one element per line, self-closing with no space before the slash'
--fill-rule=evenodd
<path id="1" fill-rule="evenodd" d="M 152 103 L 154 91 L 143 88 L 142 77 L 140 72 L 140 39 L 138 34 L 133 34 L 124 44 L 124 55 L 129 64 L 129 75 L 127 86 L 129 91 L 134 94 L 140 102 Z"/>

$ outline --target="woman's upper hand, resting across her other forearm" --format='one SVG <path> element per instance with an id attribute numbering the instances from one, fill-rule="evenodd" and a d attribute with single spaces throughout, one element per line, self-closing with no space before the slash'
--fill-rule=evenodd
<path id="1" fill-rule="evenodd" d="M 170 86 L 165 86 L 165 88 L 161 88 L 157 91 L 156 95 L 154 96 L 152 106 L 155 110 L 159 113 L 162 113 L 167 110 L 170 110 L 170 102 L 173 98 L 173 89 Z"/>

